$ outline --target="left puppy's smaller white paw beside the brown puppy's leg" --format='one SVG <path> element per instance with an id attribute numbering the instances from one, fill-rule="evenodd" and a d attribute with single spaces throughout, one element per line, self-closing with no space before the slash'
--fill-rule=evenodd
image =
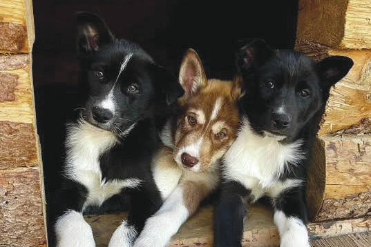
<path id="1" fill-rule="evenodd" d="M 126 221 L 122 221 L 122 224 L 113 233 L 108 247 L 131 247 L 136 236 L 135 228 L 129 226 Z"/>

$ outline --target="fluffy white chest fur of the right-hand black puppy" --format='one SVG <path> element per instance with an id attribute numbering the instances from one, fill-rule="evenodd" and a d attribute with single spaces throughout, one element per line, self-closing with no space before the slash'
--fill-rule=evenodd
<path id="1" fill-rule="evenodd" d="M 302 183 L 300 179 L 278 180 L 285 169 L 298 165 L 303 158 L 301 144 L 299 140 L 284 145 L 271 137 L 256 135 L 244 119 L 236 141 L 225 155 L 223 176 L 251 189 L 256 199 L 263 195 L 275 197 L 285 188 Z"/>

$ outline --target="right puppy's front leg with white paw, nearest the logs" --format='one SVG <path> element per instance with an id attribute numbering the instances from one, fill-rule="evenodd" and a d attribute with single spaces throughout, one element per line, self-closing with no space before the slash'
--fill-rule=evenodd
<path id="1" fill-rule="evenodd" d="M 310 247 L 302 188 L 283 192 L 274 202 L 274 223 L 280 234 L 280 247 Z"/>

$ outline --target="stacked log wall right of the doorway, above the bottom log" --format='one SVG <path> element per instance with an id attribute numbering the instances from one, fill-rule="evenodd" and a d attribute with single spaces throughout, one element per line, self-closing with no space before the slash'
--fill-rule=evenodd
<path id="1" fill-rule="evenodd" d="M 296 50 L 354 66 L 330 90 L 308 172 L 310 219 L 371 215 L 371 1 L 300 0 Z"/>

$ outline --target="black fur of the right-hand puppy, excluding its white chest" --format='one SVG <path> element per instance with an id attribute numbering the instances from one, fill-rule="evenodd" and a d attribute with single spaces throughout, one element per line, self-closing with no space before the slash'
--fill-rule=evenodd
<path id="1" fill-rule="evenodd" d="M 301 149 L 305 151 L 305 157 L 297 165 L 288 164 L 290 170 L 286 169 L 277 181 L 305 181 L 318 120 L 330 88 L 348 73 L 352 65 L 352 59 L 339 56 L 316 63 L 292 50 L 272 50 L 260 39 L 254 39 L 238 50 L 237 67 L 246 90 L 240 100 L 242 117 L 248 119 L 257 135 L 267 135 L 268 132 L 285 137 L 280 141 L 283 145 L 303 140 Z M 282 105 L 284 111 L 278 111 Z M 245 215 L 242 197 L 251 189 L 240 187 L 233 178 L 223 181 L 222 176 L 222 192 L 215 214 L 216 246 L 240 246 L 242 217 Z M 283 190 L 278 197 L 272 198 L 274 209 L 298 217 L 305 224 L 304 194 L 303 186 Z"/>

